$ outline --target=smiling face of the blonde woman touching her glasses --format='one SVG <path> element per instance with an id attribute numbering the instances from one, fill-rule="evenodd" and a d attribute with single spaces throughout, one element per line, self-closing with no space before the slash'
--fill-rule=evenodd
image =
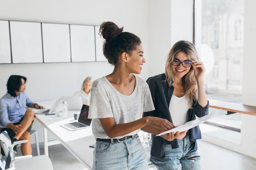
<path id="1" fill-rule="evenodd" d="M 175 55 L 174 60 L 179 60 L 180 62 L 190 61 L 188 56 L 182 51 L 178 52 Z M 175 61 L 173 61 L 173 62 L 175 62 Z M 185 63 L 183 63 L 183 64 L 185 65 Z M 177 77 L 177 78 L 182 78 L 184 75 L 186 75 L 186 73 L 189 72 L 190 68 L 191 68 L 191 66 L 184 67 L 182 65 L 182 63 L 180 63 L 178 66 L 174 66 L 173 64 L 171 64 L 171 69 L 172 69 L 175 77 Z"/>

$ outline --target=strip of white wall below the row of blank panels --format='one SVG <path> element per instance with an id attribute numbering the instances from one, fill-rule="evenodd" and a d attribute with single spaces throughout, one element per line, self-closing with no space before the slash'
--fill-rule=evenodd
<path id="1" fill-rule="evenodd" d="M 111 71 L 107 62 L 2 64 L 0 94 L 2 96 L 6 93 L 7 79 L 13 74 L 27 77 L 26 93 L 32 101 L 45 101 L 72 96 L 81 88 L 85 77 L 90 75 L 97 78 Z"/>

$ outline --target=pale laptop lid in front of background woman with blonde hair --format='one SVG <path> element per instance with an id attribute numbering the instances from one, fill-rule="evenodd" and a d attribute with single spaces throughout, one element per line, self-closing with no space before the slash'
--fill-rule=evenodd
<path id="1" fill-rule="evenodd" d="M 81 110 L 83 106 L 82 97 L 80 96 L 62 96 L 62 102 L 67 102 L 68 110 Z"/>

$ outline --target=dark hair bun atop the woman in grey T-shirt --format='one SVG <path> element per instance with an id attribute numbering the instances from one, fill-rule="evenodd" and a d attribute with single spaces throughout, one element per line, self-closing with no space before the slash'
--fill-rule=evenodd
<path id="1" fill-rule="evenodd" d="M 100 35 L 107 41 L 110 42 L 116 39 L 121 32 L 123 32 L 124 27 L 119 28 L 114 22 L 103 22 L 100 26 Z"/>

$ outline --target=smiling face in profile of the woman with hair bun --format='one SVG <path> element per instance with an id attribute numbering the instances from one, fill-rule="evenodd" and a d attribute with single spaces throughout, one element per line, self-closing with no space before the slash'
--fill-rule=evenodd
<path id="1" fill-rule="evenodd" d="M 139 74 L 141 73 L 143 63 L 145 62 L 143 47 L 139 44 L 137 45 L 137 48 L 127 56 L 126 68 L 128 68 L 131 73 Z"/>

